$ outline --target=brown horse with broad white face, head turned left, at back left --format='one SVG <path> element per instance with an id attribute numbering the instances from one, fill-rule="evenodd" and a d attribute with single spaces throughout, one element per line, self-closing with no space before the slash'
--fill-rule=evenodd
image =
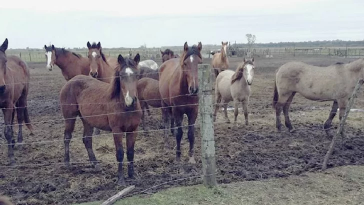
<path id="1" fill-rule="evenodd" d="M 64 48 L 54 47 L 54 45 L 44 45 L 44 48 L 47 59 L 46 68 L 52 70 L 53 65 L 56 64 L 62 71 L 65 80 L 68 81 L 78 74 L 89 74 L 88 59 L 86 57 Z"/>

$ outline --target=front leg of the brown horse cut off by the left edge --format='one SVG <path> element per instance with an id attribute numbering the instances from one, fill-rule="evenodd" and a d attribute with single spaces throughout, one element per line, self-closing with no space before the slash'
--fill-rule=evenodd
<path id="1" fill-rule="evenodd" d="M 11 143 L 14 143 L 15 141 L 12 140 L 12 124 L 11 119 L 14 112 L 14 106 L 11 104 L 7 106 L 7 108 L 2 109 L 2 113 L 4 114 L 4 135 L 7 140 L 7 157 L 9 159 L 9 164 L 14 165 L 15 164 L 15 157 L 14 157 L 14 145 Z"/>

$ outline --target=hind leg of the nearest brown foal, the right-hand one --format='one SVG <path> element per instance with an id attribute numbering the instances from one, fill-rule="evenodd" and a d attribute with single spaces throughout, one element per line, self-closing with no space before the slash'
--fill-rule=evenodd
<path id="1" fill-rule="evenodd" d="M 93 149 L 92 149 L 92 132 L 93 132 L 93 127 L 86 122 L 86 120 L 84 120 L 84 118 L 81 118 L 82 122 L 83 122 L 83 137 L 82 137 L 82 141 L 84 144 L 84 147 L 87 150 L 87 154 L 88 154 L 88 159 L 91 163 L 91 165 L 95 168 L 96 171 L 99 171 L 101 168 L 97 163 L 95 154 L 93 153 Z"/>

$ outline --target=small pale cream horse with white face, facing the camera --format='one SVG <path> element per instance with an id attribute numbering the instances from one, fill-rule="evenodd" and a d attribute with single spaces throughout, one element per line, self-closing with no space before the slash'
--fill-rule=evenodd
<path id="1" fill-rule="evenodd" d="M 219 103 L 222 101 L 224 117 L 227 123 L 230 123 L 227 117 L 227 103 L 231 100 L 234 102 L 234 126 L 238 114 L 238 106 L 241 102 L 244 110 L 245 125 L 248 125 L 248 103 L 250 96 L 250 85 L 254 76 L 255 60 L 246 60 L 245 58 L 237 66 L 235 71 L 223 70 L 216 77 L 215 83 L 215 110 L 213 112 L 213 121 L 216 120 L 216 113 Z"/>

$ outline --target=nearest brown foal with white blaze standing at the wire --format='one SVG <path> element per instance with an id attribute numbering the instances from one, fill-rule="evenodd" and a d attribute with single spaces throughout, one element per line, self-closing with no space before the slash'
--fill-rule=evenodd
<path id="1" fill-rule="evenodd" d="M 83 122 L 83 143 L 93 166 L 99 169 L 92 150 L 92 127 L 109 130 L 113 133 L 116 148 L 118 183 L 124 184 L 122 161 L 123 132 L 126 132 L 127 173 L 130 178 L 134 174 L 134 142 L 137 127 L 140 122 L 141 109 L 137 98 L 137 62 L 134 59 L 118 56 L 119 66 L 116 67 L 111 83 L 102 82 L 90 76 L 77 75 L 69 80 L 60 90 L 60 104 L 64 128 L 64 162 L 69 165 L 69 142 L 72 138 L 76 116 Z M 92 102 L 89 104 L 88 102 Z"/>

